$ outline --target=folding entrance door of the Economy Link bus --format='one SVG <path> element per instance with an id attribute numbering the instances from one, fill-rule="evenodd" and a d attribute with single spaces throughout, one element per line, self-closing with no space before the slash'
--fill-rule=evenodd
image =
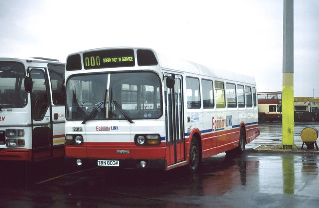
<path id="1" fill-rule="evenodd" d="M 173 87 L 167 87 L 167 79 L 174 80 Z M 185 160 L 182 76 L 166 74 L 165 81 L 167 165 L 171 165 Z"/>

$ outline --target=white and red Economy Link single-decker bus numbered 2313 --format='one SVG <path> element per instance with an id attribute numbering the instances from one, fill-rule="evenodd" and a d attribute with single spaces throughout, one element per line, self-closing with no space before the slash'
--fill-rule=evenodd
<path id="1" fill-rule="evenodd" d="M 194 172 L 259 135 L 250 76 L 124 47 L 70 54 L 65 76 L 66 164 Z"/>

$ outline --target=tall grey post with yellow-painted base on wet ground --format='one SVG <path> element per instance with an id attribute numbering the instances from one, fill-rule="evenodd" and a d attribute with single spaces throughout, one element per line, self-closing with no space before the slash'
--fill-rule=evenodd
<path id="1" fill-rule="evenodd" d="M 283 28 L 283 149 L 294 145 L 294 2 L 284 0 Z"/>

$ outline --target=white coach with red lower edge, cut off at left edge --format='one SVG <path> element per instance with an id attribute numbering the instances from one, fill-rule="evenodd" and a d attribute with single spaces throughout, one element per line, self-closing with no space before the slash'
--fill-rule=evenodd
<path id="1" fill-rule="evenodd" d="M 0 161 L 64 156 L 65 64 L 0 58 Z"/>

